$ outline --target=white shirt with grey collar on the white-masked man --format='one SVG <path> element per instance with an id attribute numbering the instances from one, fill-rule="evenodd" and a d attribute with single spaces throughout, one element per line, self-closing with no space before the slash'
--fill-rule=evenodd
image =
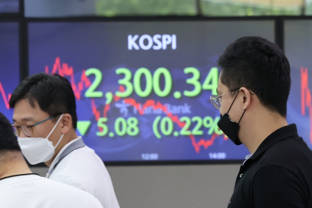
<path id="1" fill-rule="evenodd" d="M 78 148 L 59 162 L 63 151 L 80 138 L 69 142 L 59 151 L 51 163 L 47 177 L 91 193 L 98 198 L 104 208 L 120 208 L 111 177 L 94 150 L 87 146 Z M 54 170 L 50 175 L 52 169 Z"/>

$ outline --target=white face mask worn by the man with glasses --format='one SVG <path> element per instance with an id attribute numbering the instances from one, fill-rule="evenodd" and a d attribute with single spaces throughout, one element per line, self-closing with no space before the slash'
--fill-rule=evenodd
<path id="1" fill-rule="evenodd" d="M 61 137 L 59 138 L 59 142 L 55 147 L 53 147 L 53 143 L 49 141 L 48 138 L 59 124 L 62 116 L 63 114 L 61 114 L 58 122 L 55 124 L 52 131 L 46 138 L 18 137 L 21 152 L 30 164 L 35 165 L 38 163 L 46 162 L 53 157 L 55 149 L 58 147 L 59 142 L 62 140 L 64 134 L 61 135 Z"/>

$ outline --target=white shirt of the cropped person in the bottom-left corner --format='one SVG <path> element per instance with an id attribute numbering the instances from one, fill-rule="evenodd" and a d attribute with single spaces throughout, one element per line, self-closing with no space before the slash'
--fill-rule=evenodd
<path id="1" fill-rule="evenodd" d="M 0 208 L 103 208 L 90 193 L 38 175 L 0 180 Z"/>

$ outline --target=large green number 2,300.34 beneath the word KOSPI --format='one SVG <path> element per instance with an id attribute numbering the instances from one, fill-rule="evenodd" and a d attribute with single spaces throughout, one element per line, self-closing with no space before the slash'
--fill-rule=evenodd
<path id="1" fill-rule="evenodd" d="M 188 97 L 194 97 L 198 95 L 201 90 L 211 90 L 213 95 L 216 95 L 216 87 L 218 85 L 218 69 L 216 67 L 211 68 L 208 75 L 206 76 L 203 84 L 199 82 L 200 72 L 195 67 L 187 67 L 184 69 L 184 74 L 193 74 L 191 78 L 186 79 L 186 83 L 194 86 L 192 91 L 184 90 L 183 95 Z M 125 86 L 124 91 L 117 91 L 116 95 L 119 97 L 127 97 L 132 94 L 135 90 L 137 95 L 140 97 L 146 97 L 151 94 L 152 89 L 154 88 L 155 94 L 160 97 L 167 96 L 172 88 L 172 77 L 170 72 L 163 67 L 158 68 L 154 75 L 152 76 L 151 72 L 146 68 L 139 68 L 134 76 L 134 84 L 131 83 L 132 73 L 127 68 L 118 68 L 116 74 L 123 74 L 124 77 L 118 80 L 119 85 Z M 102 97 L 103 92 L 96 91 L 98 85 L 102 81 L 102 73 L 96 68 L 90 68 L 85 71 L 86 76 L 95 75 L 95 80 L 91 86 L 85 92 L 85 97 Z M 146 86 L 145 89 L 141 89 L 141 76 L 145 76 Z M 160 75 L 163 75 L 165 78 L 164 89 L 161 90 L 159 86 Z"/>

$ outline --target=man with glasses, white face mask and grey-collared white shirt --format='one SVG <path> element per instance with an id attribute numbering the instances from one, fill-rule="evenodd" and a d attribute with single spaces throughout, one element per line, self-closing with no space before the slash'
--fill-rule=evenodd
<path id="1" fill-rule="evenodd" d="M 21 151 L 30 164 L 44 162 L 50 167 L 48 178 L 91 193 L 104 208 L 119 208 L 103 162 L 76 133 L 75 95 L 66 78 L 29 76 L 9 104 Z"/>

